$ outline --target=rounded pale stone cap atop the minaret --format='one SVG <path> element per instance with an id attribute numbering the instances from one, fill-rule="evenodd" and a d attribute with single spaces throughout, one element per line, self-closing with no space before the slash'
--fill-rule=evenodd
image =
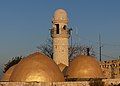
<path id="1" fill-rule="evenodd" d="M 56 10 L 53 16 L 53 22 L 54 23 L 58 23 L 58 22 L 68 23 L 67 12 L 63 9 Z"/>

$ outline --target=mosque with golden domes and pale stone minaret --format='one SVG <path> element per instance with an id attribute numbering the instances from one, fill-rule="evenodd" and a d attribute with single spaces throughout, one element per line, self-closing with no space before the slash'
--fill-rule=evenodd
<path id="1" fill-rule="evenodd" d="M 51 29 L 54 52 L 53 60 L 40 52 L 30 54 L 18 64 L 9 68 L 1 81 L 65 82 L 105 78 L 99 61 L 93 56 L 79 55 L 69 63 L 68 46 L 70 29 L 68 28 L 68 22 L 69 19 L 65 10 L 58 9 L 55 11 Z"/>

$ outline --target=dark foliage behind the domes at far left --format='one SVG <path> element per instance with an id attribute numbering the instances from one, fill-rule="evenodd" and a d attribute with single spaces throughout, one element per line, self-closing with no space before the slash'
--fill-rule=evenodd
<path id="1" fill-rule="evenodd" d="M 22 56 L 13 57 L 12 60 L 9 60 L 4 66 L 3 73 L 5 73 L 11 66 L 17 64 L 22 59 Z"/>

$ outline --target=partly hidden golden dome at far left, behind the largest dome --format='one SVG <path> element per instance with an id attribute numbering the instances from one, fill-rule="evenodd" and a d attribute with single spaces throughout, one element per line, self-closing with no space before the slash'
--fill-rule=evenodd
<path id="1" fill-rule="evenodd" d="M 9 81 L 10 76 L 11 76 L 11 74 L 12 74 L 12 72 L 13 72 L 13 70 L 14 70 L 15 67 L 16 67 L 16 65 L 10 67 L 10 68 L 4 73 L 1 81 Z"/>

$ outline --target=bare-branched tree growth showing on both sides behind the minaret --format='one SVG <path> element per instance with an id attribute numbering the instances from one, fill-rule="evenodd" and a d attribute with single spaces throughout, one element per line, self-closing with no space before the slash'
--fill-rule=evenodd
<path id="1" fill-rule="evenodd" d="M 53 42 L 52 39 L 48 39 L 43 45 L 37 46 L 37 48 L 40 50 L 40 52 L 44 53 L 48 57 L 53 59 Z M 79 45 L 79 44 L 73 44 L 69 45 L 69 59 L 73 59 L 77 55 L 87 55 L 87 49 L 89 49 L 90 55 L 95 55 L 93 51 L 92 46 L 86 46 L 86 45 Z"/>

